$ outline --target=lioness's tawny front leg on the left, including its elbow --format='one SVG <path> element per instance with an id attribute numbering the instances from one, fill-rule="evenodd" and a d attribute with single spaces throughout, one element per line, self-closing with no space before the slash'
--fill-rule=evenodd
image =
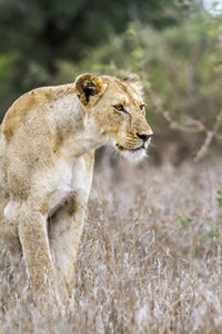
<path id="1" fill-rule="evenodd" d="M 4 209 L 7 243 L 12 242 L 16 253 L 23 256 L 27 275 L 39 310 L 48 311 L 59 303 L 57 279 L 49 248 L 46 217 L 30 200 L 9 202 Z M 14 244 L 17 242 L 17 245 Z M 13 250 L 13 249 L 12 249 Z M 21 250 L 21 252 L 20 252 Z M 48 303 L 50 301 L 50 303 Z M 49 306 L 49 307 L 48 307 Z"/>

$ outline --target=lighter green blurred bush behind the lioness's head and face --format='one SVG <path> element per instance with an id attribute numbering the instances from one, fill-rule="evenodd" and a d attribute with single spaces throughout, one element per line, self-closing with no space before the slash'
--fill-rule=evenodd
<path id="1" fill-rule="evenodd" d="M 120 78 L 131 71 L 140 75 L 148 118 L 155 134 L 157 158 L 172 155 L 176 164 L 188 155 L 195 155 L 205 138 L 204 131 L 192 132 L 190 120 L 198 120 L 212 130 L 222 110 L 222 65 L 219 61 L 222 55 L 218 35 L 212 31 L 209 23 L 198 18 L 161 31 L 134 21 L 124 33 L 93 49 L 80 62 L 58 61 L 56 82 L 72 81 L 73 73 L 83 71 Z M 158 112 L 151 92 L 175 124 L 188 126 L 191 132 L 170 128 Z M 221 144 L 215 140 L 213 144 L 220 151 Z"/>

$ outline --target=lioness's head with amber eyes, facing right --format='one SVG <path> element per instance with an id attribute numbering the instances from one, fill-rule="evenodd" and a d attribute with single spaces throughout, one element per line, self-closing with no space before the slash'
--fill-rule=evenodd
<path id="1" fill-rule="evenodd" d="M 98 135 L 111 141 L 127 158 L 142 159 L 153 132 L 145 119 L 140 79 L 85 73 L 77 78 L 75 89 Z"/>

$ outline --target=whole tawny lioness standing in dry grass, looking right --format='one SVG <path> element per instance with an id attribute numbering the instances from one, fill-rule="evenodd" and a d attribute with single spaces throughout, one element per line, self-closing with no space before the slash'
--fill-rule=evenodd
<path id="1" fill-rule="evenodd" d="M 140 160 L 151 136 L 138 78 L 84 73 L 9 108 L 0 128 L 0 234 L 21 244 L 37 302 L 49 291 L 58 303 L 71 294 L 94 149 L 112 143 Z"/>

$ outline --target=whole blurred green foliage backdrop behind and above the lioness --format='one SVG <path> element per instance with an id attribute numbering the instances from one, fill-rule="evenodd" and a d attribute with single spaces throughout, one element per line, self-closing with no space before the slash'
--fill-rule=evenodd
<path id="1" fill-rule="evenodd" d="M 169 154 L 163 146 L 169 143 L 178 160 L 194 154 L 204 132 L 171 129 L 152 94 L 175 124 L 193 118 L 212 129 L 222 110 L 221 20 L 179 4 L 0 0 L 1 116 L 33 87 L 72 82 L 87 71 L 119 77 L 135 72 L 144 85 L 157 151 Z"/>

